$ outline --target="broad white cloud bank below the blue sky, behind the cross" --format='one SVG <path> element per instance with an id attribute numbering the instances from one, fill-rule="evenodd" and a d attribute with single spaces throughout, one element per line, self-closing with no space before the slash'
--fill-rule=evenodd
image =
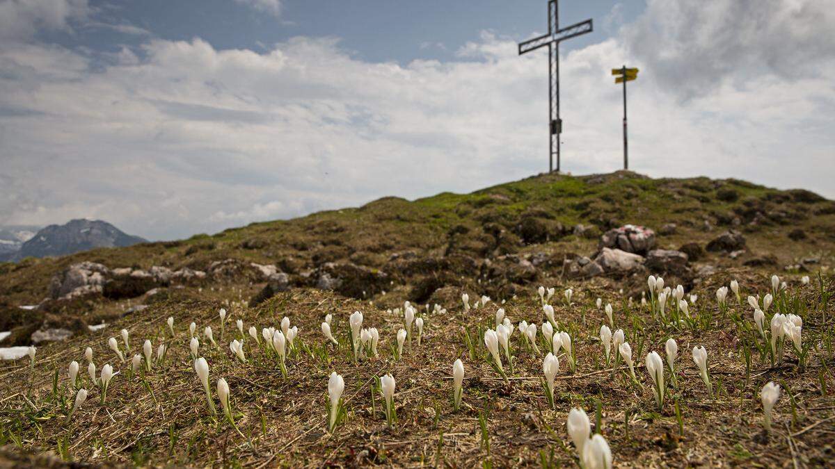
<path id="1" fill-rule="evenodd" d="M 620 168 L 609 69 L 627 63 L 641 68 L 630 83 L 633 169 L 835 196 L 835 90 L 822 78 L 831 62 L 810 60 L 818 73 L 793 77 L 726 73 L 682 102 L 657 65 L 673 52 L 645 57 L 622 44 L 563 58 L 564 169 Z M 461 48 L 461 61 L 405 65 L 364 62 L 335 38 L 264 53 L 200 39 L 143 49 L 97 68 L 57 46 L 0 48 L 0 224 L 92 217 L 174 238 L 547 168 L 547 58 L 518 57 L 495 33 Z"/>

